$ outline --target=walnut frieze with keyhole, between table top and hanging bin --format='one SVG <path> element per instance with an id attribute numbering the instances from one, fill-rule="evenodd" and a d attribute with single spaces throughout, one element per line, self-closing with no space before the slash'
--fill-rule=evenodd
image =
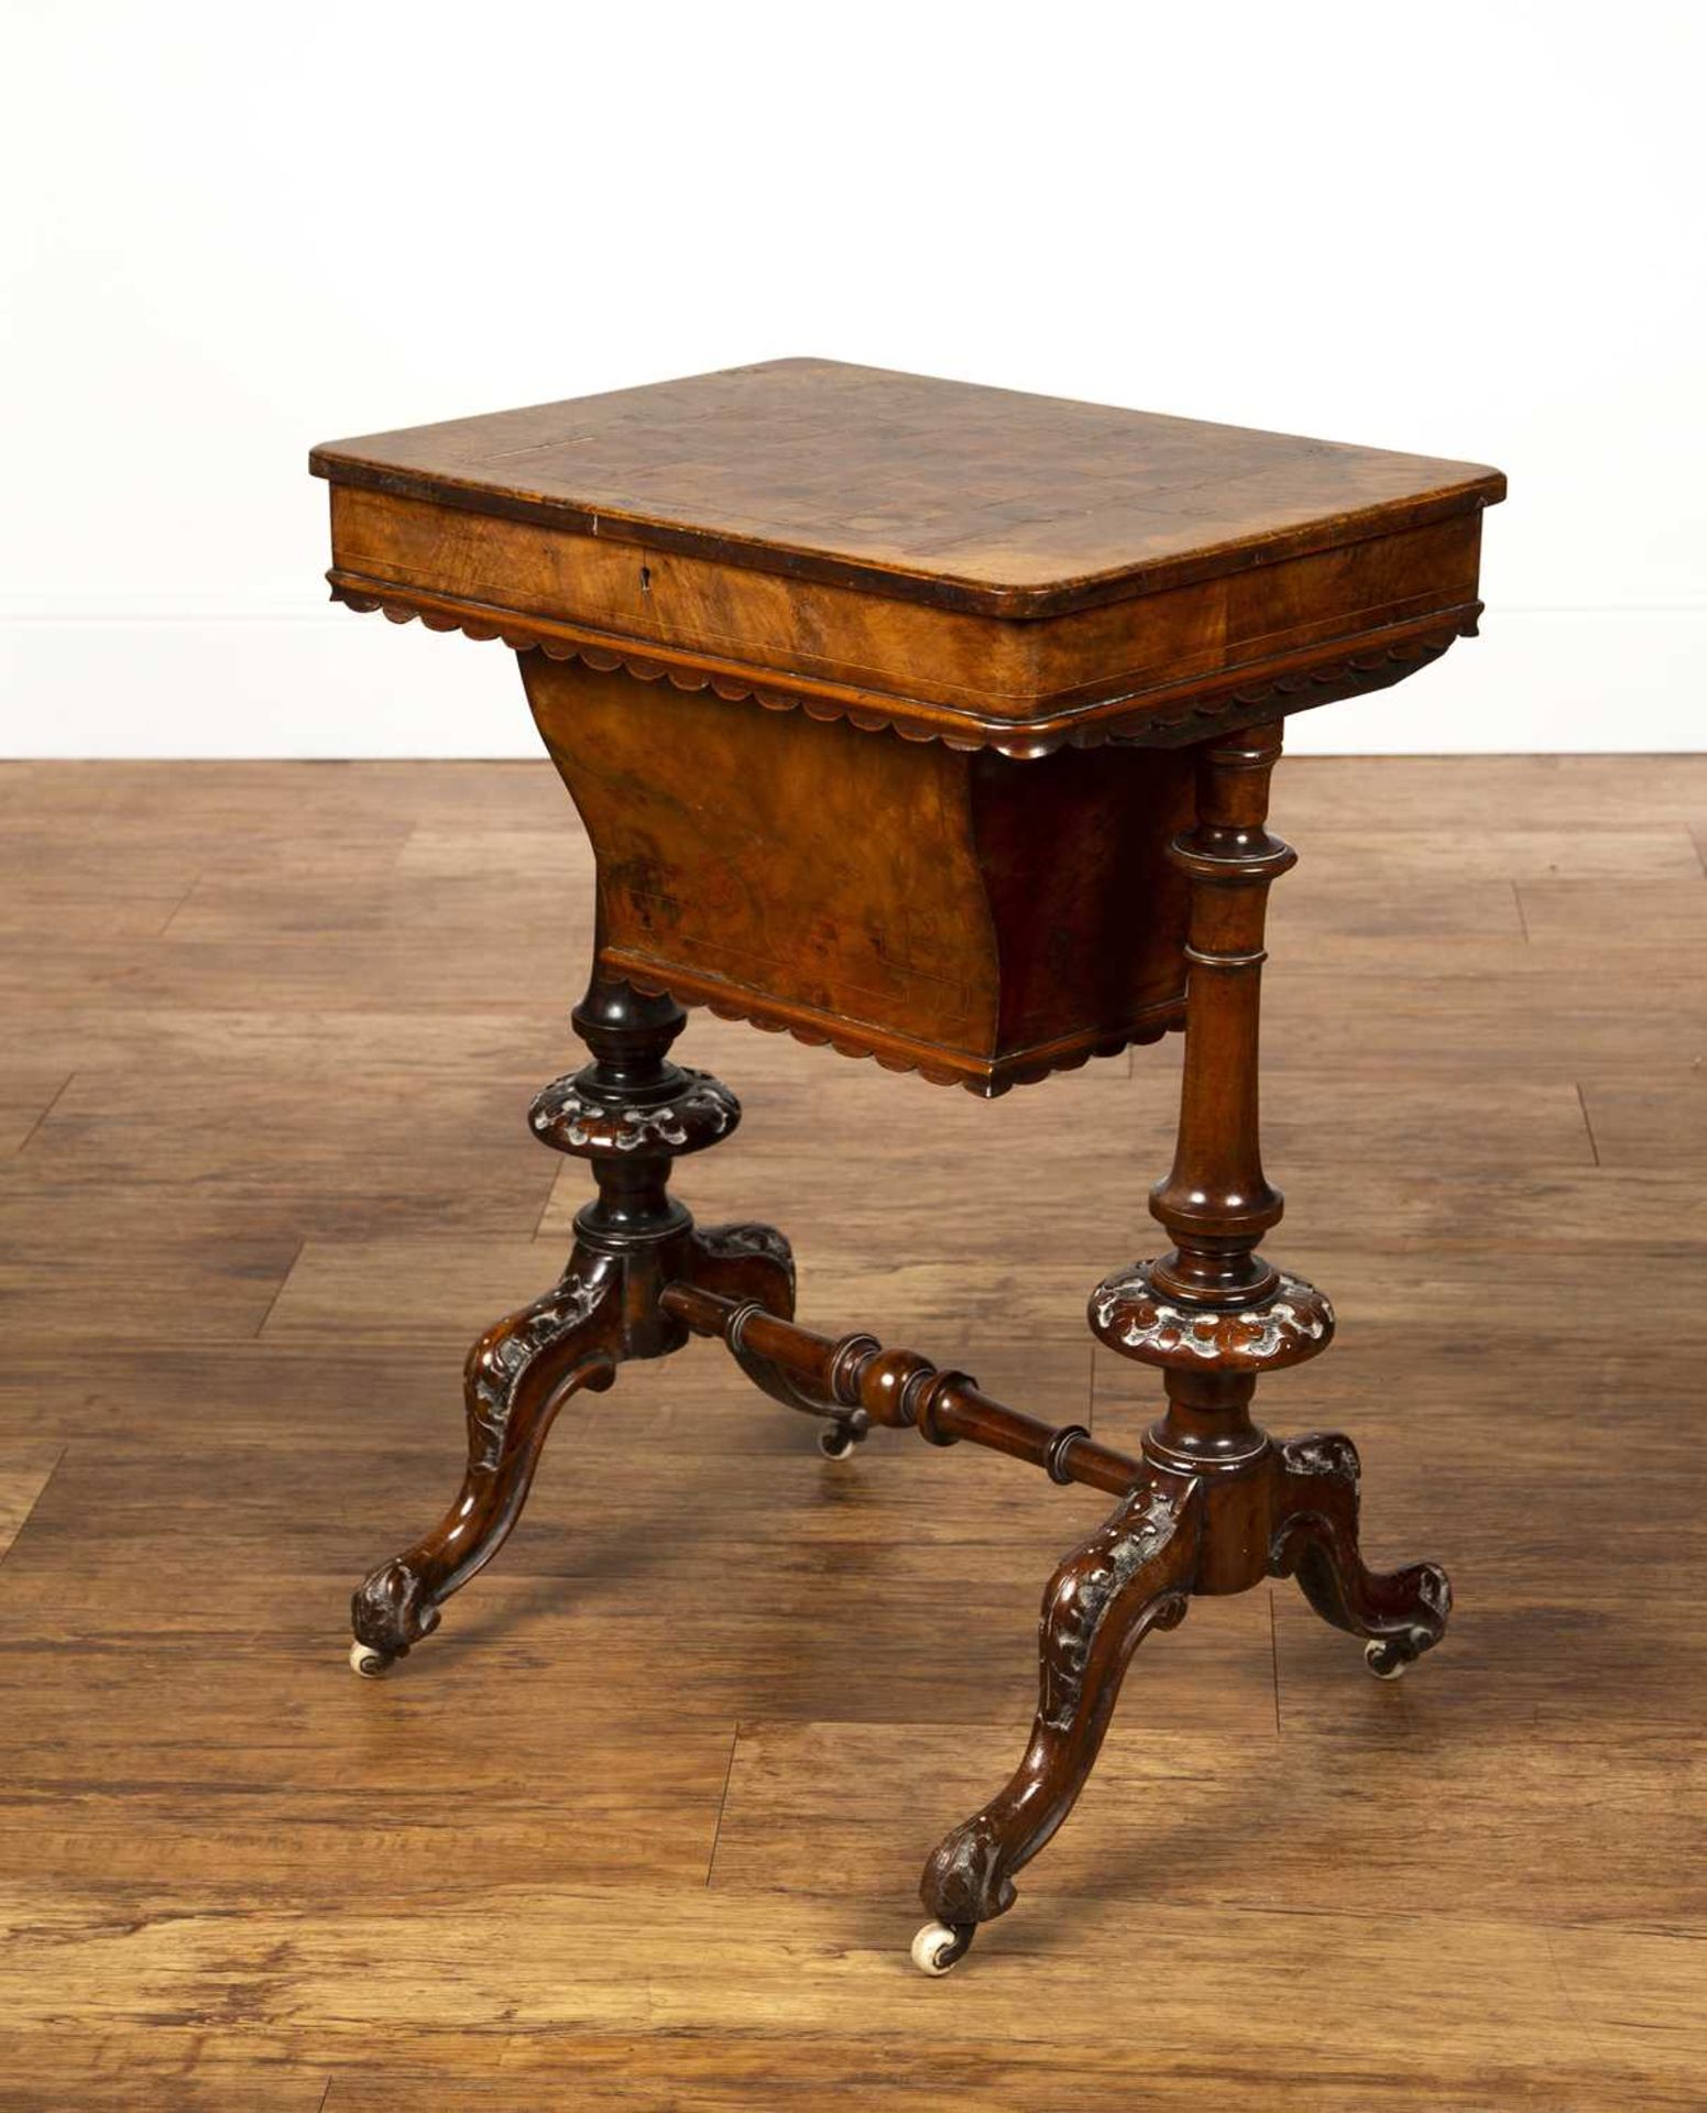
<path id="1" fill-rule="evenodd" d="M 1371 632 L 1477 606 L 1481 518 L 1460 513 L 1257 573 L 1033 623 L 756 573 L 742 564 L 334 488 L 334 583 L 349 596 L 431 598 L 505 623 L 573 623 L 691 663 L 1027 721 L 1189 676 L 1261 668 Z"/>

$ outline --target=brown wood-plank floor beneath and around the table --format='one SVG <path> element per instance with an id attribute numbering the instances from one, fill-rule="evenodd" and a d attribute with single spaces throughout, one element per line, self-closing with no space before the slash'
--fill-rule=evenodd
<path id="1" fill-rule="evenodd" d="M 1259 1407 L 1356 1433 L 1367 1551 L 1458 1614 L 1386 1686 L 1289 1585 L 1196 1602 L 927 1982 L 1094 1496 L 828 1466 L 695 1346 L 344 1665 L 583 1194 L 522 1120 L 589 932 L 547 767 L 0 767 L 0 2102 L 1707 2105 L 1707 759 L 1297 761 L 1276 822 L 1270 1251 L 1342 1333 Z M 748 1114 L 680 1188 L 790 1230 L 803 1319 L 1137 1443 L 1082 1314 L 1177 1048 L 995 1105 L 682 1054 Z"/>

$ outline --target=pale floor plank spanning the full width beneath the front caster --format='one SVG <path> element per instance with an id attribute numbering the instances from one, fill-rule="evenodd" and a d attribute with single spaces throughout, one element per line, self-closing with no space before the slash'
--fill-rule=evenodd
<path id="1" fill-rule="evenodd" d="M 4 1912 L 4 1908 L 0 1908 Z M 264 2020 L 256 2054 L 321 2069 L 395 2016 L 416 2056 L 439 2035 L 731 2033 L 763 2022 L 809 2041 L 862 2005 L 870 2037 L 927 2039 L 938 1990 L 896 1957 L 894 1908 L 811 1895 L 739 1900 L 716 1889 L 503 1887 L 452 1902 L 368 1897 L 342 1914 L 277 1908 L 184 1912 L 169 1895 L 106 1889 L 27 1900 L 6 1914 L 0 1997 L 17 2026 L 46 2024 L 42 1967 L 91 2031 L 152 2018 Z M 1107 2001 L 1107 1944 L 1130 1925 L 1111 1891 L 1075 1916 L 1014 1916 L 987 1933 L 982 1971 L 957 1982 L 953 2031 L 997 2047 L 1039 2041 L 1145 2045 L 1158 2073 L 1217 2088 L 1278 2071 L 1409 2086 L 1479 2073 L 1521 2088 L 1563 2062 L 1629 2081 L 1631 2064 L 1677 2088 L 1701 2073 L 1701 1946 L 1635 1931 L 1555 1931 L 1536 1921 L 1289 1914 L 1151 1906 L 1145 2001 Z M 636 1959 L 644 1929 L 644 1959 Z M 1299 1950 L 1308 1948 L 1308 1988 Z M 710 1961 L 714 1959 L 714 1965 Z M 1162 1969 L 1166 1961 L 1166 1969 Z M 708 1969 L 710 1965 L 710 1969 Z M 1380 2001 L 1371 2001 L 1380 1990 Z M 1498 1990 L 1498 2001 L 1489 1995 Z M 1308 2028 L 1297 2005 L 1308 2001 Z M 1215 2018 L 1213 2033 L 1204 2018 Z M 1196 2022 L 1196 2031 L 1194 2031 Z M 1211 2041 L 1211 2045 L 1206 2045 Z M 1179 2054 L 1170 2052 L 1179 2050 Z M 494 2052 L 494 2050 L 492 2050 Z M 490 2052 L 488 2052 L 490 2060 Z M 1620 2075 L 1622 2073 L 1622 2075 Z M 1403 2102 L 1403 2100 L 1401 2100 Z M 1498 2098 L 1494 2100 L 1498 2102 Z"/>

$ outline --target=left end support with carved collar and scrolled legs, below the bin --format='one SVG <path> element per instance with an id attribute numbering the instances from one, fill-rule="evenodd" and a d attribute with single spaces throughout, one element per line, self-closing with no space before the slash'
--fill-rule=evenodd
<path id="1" fill-rule="evenodd" d="M 684 1023 L 668 997 L 594 976 L 575 1025 L 594 1061 L 532 1103 L 534 1135 L 592 1162 L 598 1196 L 575 1219 L 575 1253 L 543 1297 L 490 1327 L 463 1392 L 469 1462 L 444 1519 L 355 1593 L 351 1663 L 380 1673 L 439 1625 L 439 1608 L 503 1547 L 522 1515 L 551 1420 L 630 1357 L 665 1357 L 687 1327 L 663 1310 L 672 1280 L 794 1310 L 788 1242 L 769 1226 L 695 1230 L 668 1192 L 672 1160 L 727 1137 L 742 1109 L 704 1071 L 670 1063 Z"/>

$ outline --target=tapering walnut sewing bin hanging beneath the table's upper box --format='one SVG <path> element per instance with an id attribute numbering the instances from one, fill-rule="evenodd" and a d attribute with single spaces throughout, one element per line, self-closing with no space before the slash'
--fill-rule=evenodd
<path id="1" fill-rule="evenodd" d="M 598 854 L 608 974 L 982 1092 L 1177 1018 L 1183 754 L 1014 763 L 520 666 Z"/>

